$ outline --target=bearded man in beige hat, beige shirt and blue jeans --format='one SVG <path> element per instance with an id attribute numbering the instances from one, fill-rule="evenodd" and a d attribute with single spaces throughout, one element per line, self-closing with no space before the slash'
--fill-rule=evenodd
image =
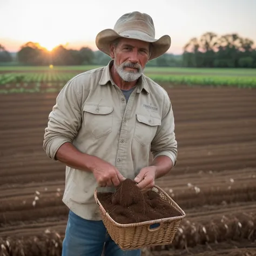
<path id="1" fill-rule="evenodd" d="M 171 45 L 169 36 L 154 36 L 152 18 L 137 11 L 99 32 L 96 45 L 111 61 L 69 80 L 49 115 L 43 148 L 66 165 L 63 202 L 70 212 L 63 256 L 99 256 L 103 247 L 107 256 L 140 255 L 122 251 L 107 235 L 93 192 L 125 178 L 149 190 L 176 165 L 169 96 L 143 74 Z"/>

